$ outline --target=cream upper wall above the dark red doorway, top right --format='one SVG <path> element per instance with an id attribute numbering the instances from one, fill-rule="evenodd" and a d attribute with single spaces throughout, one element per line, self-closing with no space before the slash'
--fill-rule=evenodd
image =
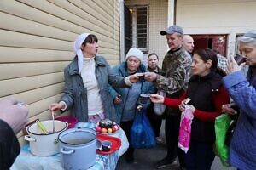
<path id="1" fill-rule="evenodd" d="M 177 25 L 187 34 L 227 34 L 227 54 L 233 55 L 236 35 L 256 27 L 254 0 L 178 0 Z"/>

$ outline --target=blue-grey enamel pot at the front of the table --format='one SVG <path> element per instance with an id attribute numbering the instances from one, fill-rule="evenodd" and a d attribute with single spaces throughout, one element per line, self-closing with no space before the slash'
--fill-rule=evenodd
<path id="1" fill-rule="evenodd" d="M 90 128 L 70 128 L 60 133 L 61 166 L 64 169 L 85 170 L 96 163 L 96 131 Z"/>

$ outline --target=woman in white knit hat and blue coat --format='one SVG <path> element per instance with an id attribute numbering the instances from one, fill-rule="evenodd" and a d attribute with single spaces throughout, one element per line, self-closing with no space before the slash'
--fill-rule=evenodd
<path id="1" fill-rule="evenodd" d="M 146 66 L 142 64 L 143 52 L 137 48 L 131 48 L 125 56 L 125 62 L 113 67 L 113 71 L 123 77 L 131 76 L 134 74 L 141 74 L 147 71 Z M 109 92 L 113 99 L 115 111 L 119 116 L 119 122 L 122 129 L 125 131 L 127 139 L 131 142 L 130 129 L 134 118 L 137 114 L 137 109 L 146 108 L 150 104 L 142 104 L 140 102 L 140 94 L 151 94 L 154 92 L 154 85 L 152 82 L 145 82 L 143 78 L 132 85 L 131 88 L 114 88 L 109 87 Z M 127 152 L 125 153 L 126 161 L 133 161 L 134 149 L 129 145 Z"/>

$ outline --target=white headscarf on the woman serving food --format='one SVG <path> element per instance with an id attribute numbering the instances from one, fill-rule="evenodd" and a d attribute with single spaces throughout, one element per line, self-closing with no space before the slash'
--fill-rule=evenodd
<path id="1" fill-rule="evenodd" d="M 84 42 L 85 38 L 89 36 L 88 33 L 80 34 L 74 44 L 73 44 L 73 52 L 78 55 L 78 65 L 79 65 L 79 72 L 82 71 L 83 64 L 84 64 L 84 54 L 81 50 L 82 43 Z"/>

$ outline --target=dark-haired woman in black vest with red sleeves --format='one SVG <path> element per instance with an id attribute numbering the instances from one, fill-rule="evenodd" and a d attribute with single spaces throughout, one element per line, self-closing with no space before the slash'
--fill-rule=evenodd
<path id="1" fill-rule="evenodd" d="M 212 49 L 195 51 L 189 80 L 189 87 L 180 99 L 164 98 L 150 94 L 154 103 L 163 103 L 184 111 L 184 99 L 190 98 L 194 119 L 191 125 L 189 150 L 185 154 L 185 164 L 190 169 L 211 169 L 215 142 L 214 121 L 221 114 L 221 106 L 229 102 L 229 94 L 222 84 L 222 72 L 218 71 L 218 58 Z"/>

